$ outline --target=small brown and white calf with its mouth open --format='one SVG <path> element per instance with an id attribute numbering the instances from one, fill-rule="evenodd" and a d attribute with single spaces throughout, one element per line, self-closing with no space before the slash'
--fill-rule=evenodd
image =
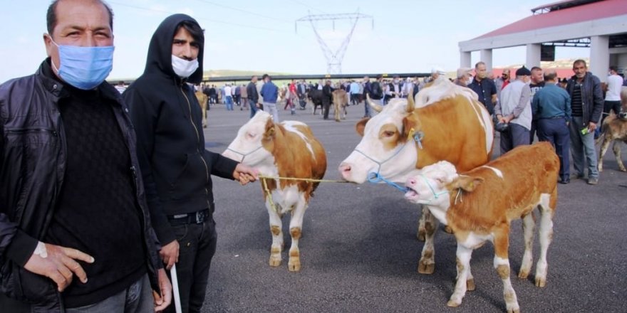
<path id="1" fill-rule="evenodd" d="M 524 255 L 518 277 L 527 278 L 533 262 L 534 208 L 541 213 L 535 282 L 538 287 L 546 285 L 546 251 L 553 238 L 558 174 L 559 159 L 553 147 L 540 142 L 513 149 L 463 174 L 457 174 L 449 162 L 440 161 L 408 179 L 405 198 L 425 205 L 437 220 L 452 228 L 457 240 L 457 283 L 448 306 L 457 307 L 466 290 L 475 289 L 470 272 L 472 250 L 489 240 L 494 244 L 494 268 L 503 282 L 507 312 L 519 312 L 509 280 L 509 226 L 512 220 L 522 218 Z M 433 236 L 427 240 L 432 241 Z"/>

